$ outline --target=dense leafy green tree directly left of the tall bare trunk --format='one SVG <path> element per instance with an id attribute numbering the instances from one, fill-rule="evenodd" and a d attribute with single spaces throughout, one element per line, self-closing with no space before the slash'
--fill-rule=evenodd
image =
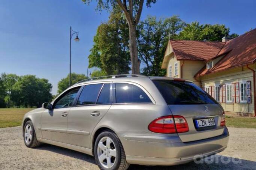
<path id="1" fill-rule="evenodd" d="M 108 22 L 99 25 L 88 57 L 89 68 L 100 68 L 107 75 L 126 74 L 130 71 L 129 33 L 122 15 L 116 6 Z"/>

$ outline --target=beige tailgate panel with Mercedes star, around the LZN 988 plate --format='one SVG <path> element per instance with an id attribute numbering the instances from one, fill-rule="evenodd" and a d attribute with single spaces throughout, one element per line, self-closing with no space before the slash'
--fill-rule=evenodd
<path id="1" fill-rule="evenodd" d="M 178 133 L 182 142 L 191 142 L 195 140 L 207 139 L 220 136 L 224 128 L 220 126 L 220 120 L 223 110 L 218 104 L 211 105 L 168 105 L 173 115 L 185 117 L 188 123 L 189 131 Z M 196 120 L 214 120 L 215 125 L 199 127 Z"/>

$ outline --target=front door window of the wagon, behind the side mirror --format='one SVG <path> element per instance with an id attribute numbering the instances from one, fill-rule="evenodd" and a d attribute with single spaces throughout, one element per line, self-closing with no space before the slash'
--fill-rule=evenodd
<path id="1" fill-rule="evenodd" d="M 72 89 L 71 91 L 64 94 L 64 96 L 60 96 L 60 99 L 57 99 L 57 102 L 54 104 L 54 108 L 63 108 L 71 106 L 72 102 L 77 96 L 79 89 L 80 87 L 76 87 L 75 89 Z"/>

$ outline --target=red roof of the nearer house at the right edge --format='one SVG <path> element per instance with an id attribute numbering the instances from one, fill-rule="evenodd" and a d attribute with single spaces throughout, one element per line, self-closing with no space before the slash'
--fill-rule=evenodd
<path id="1" fill-rule="evenodd" d="M 256 29 L 227 41 L 218 56 L 224 54 L 226 56 L 220 59 L 211 69 L 204 67 L 197 72 L 195 77 L 253 64 L 256 61 Z"/>

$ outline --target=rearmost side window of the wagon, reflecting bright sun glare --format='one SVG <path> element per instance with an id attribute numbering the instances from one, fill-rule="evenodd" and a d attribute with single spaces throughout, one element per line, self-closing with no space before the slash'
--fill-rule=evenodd
<path id="1" fill-rule="evenodd" d="M 151 103 L 151 100 L 133 84 L 116 83 L 116 103 Z"/>

